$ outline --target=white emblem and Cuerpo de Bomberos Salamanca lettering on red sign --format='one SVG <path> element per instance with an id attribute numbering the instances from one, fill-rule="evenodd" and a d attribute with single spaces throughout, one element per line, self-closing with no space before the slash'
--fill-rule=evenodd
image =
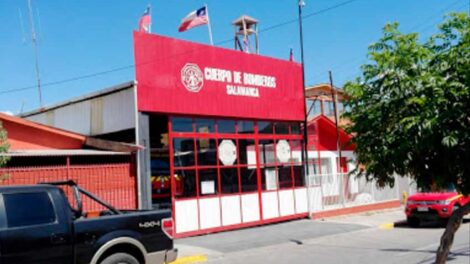
<path id="1" fill-rule="evenodd" d="M 188 63 L 182 70 L 183 85 L 191 92 L 199 92 L 204 85 L 202 73 L 196 64 Z M 228 95 L 260 97 L 260 88 L 276 88 L 276 77 L 249 72 L 205 67 L 206 81 L 226 83 Z"/>

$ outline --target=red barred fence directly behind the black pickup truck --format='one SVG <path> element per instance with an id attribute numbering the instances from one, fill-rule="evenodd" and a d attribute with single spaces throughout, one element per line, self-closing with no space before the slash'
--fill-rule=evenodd
<path id="1" fill-rule="evenodd" d="M 1 185 L 37 184 L 40 182 L 74 180 L 84 189 L 96 194 L 119 209 L 135 209 L 136 178 L 130 163 L 70 166 L 9 167 L 0 169 Z M 71 190 L 63 188 L 71 203 Z M 86 212 L 104 208 L 87 197 L 83 200 Z"/>

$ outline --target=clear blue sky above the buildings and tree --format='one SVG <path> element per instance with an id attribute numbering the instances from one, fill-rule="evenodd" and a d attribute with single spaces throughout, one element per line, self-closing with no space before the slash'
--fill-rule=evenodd
<path id="1" fill-rule="evenodd" d="M 300 60 L 298 24 L 274 25 L 297 18 L 297 0 L 33 0 L 43 83 L 44 105 L 61 102 L 134 79 L 132 30 L 147 4 L 152 6 L 152 33 L 209 43 L 207 27 L 178 33 L 180 20 L 207 3 L 214 42 L 233 38 L 231 22 L 241 14 L 258 19 L 260 53 L 284 58 L 289 49 Z M 304 15 L 346 0 L 305 0 Z M 444 14 L 469 10 L 468 0 L 355 0 L 304 19 L 307 85 L 326 82 L 333 71 L 342 85 L 366 62 L 367 47 L 381 36 L 387 22 L 422 38 L 436 32 Z M 27 0 L 0 0 L 0 111 L 17 114 L 39 106 Z M 21 15 L 20 15 L 21 13 Z M 22 19 L 20 19 L 22 17 Z M 227 41 L 218 46 L 232 48 Z M 123 68 L 107 74 L 80 78 Z"/>

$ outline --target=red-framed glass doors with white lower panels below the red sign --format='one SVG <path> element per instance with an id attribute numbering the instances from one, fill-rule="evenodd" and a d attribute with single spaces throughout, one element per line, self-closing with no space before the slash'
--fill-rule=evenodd
<path id="1" fill-rule="evenodd" d="M 177 236 L 307 215 L 299 123 L 172 116 L 168 128 Z"/>

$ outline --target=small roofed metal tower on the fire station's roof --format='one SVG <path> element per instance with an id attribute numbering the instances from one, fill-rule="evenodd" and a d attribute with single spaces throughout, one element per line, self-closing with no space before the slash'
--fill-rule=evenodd
<path id="1" fill-rule="evenodd" d="M 259 54 L 259 42 L 258 42 L 258 20 L 242 15 L 232 22 L 235 28 L 235 49 L 244 51 L 246 53 Z M 243 40 L 240 41 L 240 38 Z M 253 49 L 251 43 L 255 43 Z"/>

